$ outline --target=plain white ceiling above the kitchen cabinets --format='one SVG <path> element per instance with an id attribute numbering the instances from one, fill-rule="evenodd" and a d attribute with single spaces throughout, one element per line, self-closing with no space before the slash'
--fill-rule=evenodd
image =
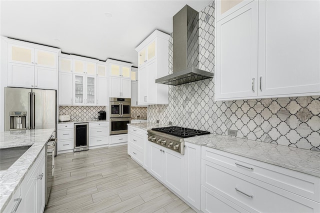
<path id="1" fill-rule="evenodd" d="M 134 48 L 154 29 L 171 33 L 185 4 L 197 11 L 212 0 L 0 1 L 3 36 L 58 47 L 64 53 L 137 66 Z M 104 13 L 110 12 L 112 17 Z"/>

